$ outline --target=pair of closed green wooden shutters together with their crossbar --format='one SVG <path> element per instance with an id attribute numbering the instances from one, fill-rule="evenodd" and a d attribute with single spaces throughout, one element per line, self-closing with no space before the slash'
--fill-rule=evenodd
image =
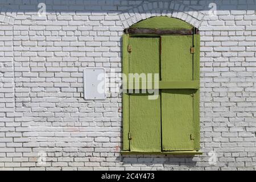
<path id="1" fill-rule="evenodd" d="M 159 73 L 159 97 L 124 94 L 124 149 L 199 150 L 199 35 L 130 37 L 125 73 Z M 130 80 L 129 80 L 130 81 Z M 141 90 L 142 91 L 142 90 Z M 127 110 L 128 109 L 128 110 Z"/>

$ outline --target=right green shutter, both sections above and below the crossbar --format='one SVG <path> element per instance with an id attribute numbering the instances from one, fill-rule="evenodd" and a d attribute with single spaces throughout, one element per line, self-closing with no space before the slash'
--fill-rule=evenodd
<path id="1" fill-rule="evenodd" d="M 162 36 L 161 80 L 193 80 L 193 36 Z M 194 150 L 195 89 L 162 90 L 163 151 Z"/>

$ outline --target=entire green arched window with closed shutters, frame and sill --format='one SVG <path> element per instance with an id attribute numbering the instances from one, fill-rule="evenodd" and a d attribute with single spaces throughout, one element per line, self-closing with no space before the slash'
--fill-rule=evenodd
<path id="1" fill-rule="evenodd" d="M 122 72 L 127 78 L 123 79 L 123 154 L 201 154 L 200 35 L 196 34 L 191 24 L 167 16 L 126 28 L 122 37 Z M 151 92 L 142 92 L 148 89 L 146 76 L 144 80 L 130 77 L 136 74 L 158 75 L 155 99 L 148 99 Z M 134 82 L 138 88 L 134 89 Z"/>

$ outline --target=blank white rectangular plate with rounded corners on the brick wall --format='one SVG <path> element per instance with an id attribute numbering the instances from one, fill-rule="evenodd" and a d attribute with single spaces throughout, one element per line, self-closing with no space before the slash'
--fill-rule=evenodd
<path id="1" fill-rule="evenodd" d="M 104 100 L 106 98 L 104 68 L 84 69 L 84 99 Z"/>

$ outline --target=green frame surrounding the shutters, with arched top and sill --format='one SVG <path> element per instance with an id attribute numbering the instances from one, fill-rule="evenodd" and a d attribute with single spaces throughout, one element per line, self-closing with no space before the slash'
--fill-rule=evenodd
<path id="1" fill-rule="evenodd" d="M 165 17 L 165 18 L 161 18 L 161 17 Z M 154 17 L 154 18 L 156 18 L 156 17 Z M 158 16 L 157 18 L 159 18 L 159 22 L 161 22 L 162 20 L 166 21 L 166 16 Z M 184 24 L 182 26 L 178 26 L 177 21 L 180 21 L 183 23 L 184 23 L 184 21 L 180 20 L 180 19 L 176 19 L 176 18 L 170 18 L 170 19 L 175 20 L 175 23 L 176 23 L 176 25 L 175 25 L 176 27 L 175 26 L 171 27 L 171 29 L 176 30 L 176 31 L 171 34 L 170 34 L 170 31 L 167 31 L 168 33 L 164 34 L 164 32 L 166 32 L 166 28 L 162 28 L 162 27 L 159 27 L 159 30 L 164 30 L 164 31 L 159 31 L 160 32 L 159 34 L 155 34 L 155 32 L 150 32 L 150 34 L 137 34 L 135 32 L 135 34 L 134 34 L 134 33 L 132 33 L 132 31 L 129 32 L 129 28 L 125 30 L 125 34 L 123 34 L 123 36 L 122 36 L 122 73 L 124 73 L 125 75 L 128 75 L 128 73 L 129 73 L 129 50 L 128 50 L 129 38 L 136 37 L 136 36 L 146 36 L 146 37 L 158 36 L 158 37 L 160 37 L 161 35 L 179 34 L 179 31 L 177 31 L 177 30 L 182 30 L 182 27 L 184 27 Z M 147 30 L 152 27 L 152 24 L 150 24 L 150 18 L 143 20 L 143 21 L 147 21 L 147 24 L 146 24 Z M 141 23 L 141 22 L 139 22 L 139 23 Z M 168 23 L 170 24 L 170 22 L 168 22 Z M 139 28 L 139 26 L 138 27 L 135 26 L 136 24 L 134 24 L 130 28 Z M 142 25 L 144 26 L 143 23 L 142 23 Z M 155 26 L 155 24 L 154 24 L 154 26 Z M 143 28 L 145 28 L 145 27 L 143 27 Z M 199 81 L 200 80 L 200 75 L 199 75 L 200 74 L 200 35 L 199 35 L 199 31 L 197 30 L 197 28 L 192 27 L 191 30 L 192 30 L 191 35 L 193 35 L 193 47 L 195 47 L 195 52 L 193 52 L 193 80 Z M 186 32 L 188 32 L 188 31 L 186 31 Z M 158 33 L 158 32 L 156 32 L 156 33 Z M 193 151 L 134 152 L 134 151 L 130 151 L 129 93 L 123 93 L 122 94 L 122 118 L 123 118 L 122 119 L 122 121 L 123 121 L 123 125 L 122 125 L 123 146 L 122 146 L 122 148 L 123 149 L 121 151 L 121 154 L 142 154 L 142 153 L 143 154 L 171 154 L 171 155 L 203 154 L 202 152 L 199 151 L 200 150 L 200 115 L 199 115 L 200 114 L 199 113 L 200 106 L 199 106 L 199 104 L 200 104 L 200 87 L 197 89 L 196 94 L 193 97 L 193 124 L 194 124 L 193 129 L 195 131 L 194 132 L 195 136 L 193 136 L 193 137 L 194 137 L 194 143 L 195 143 L 195 150 L 193 150 Z M 161 148 L 161 150 L 162 150 L 162 148 Z"/>

